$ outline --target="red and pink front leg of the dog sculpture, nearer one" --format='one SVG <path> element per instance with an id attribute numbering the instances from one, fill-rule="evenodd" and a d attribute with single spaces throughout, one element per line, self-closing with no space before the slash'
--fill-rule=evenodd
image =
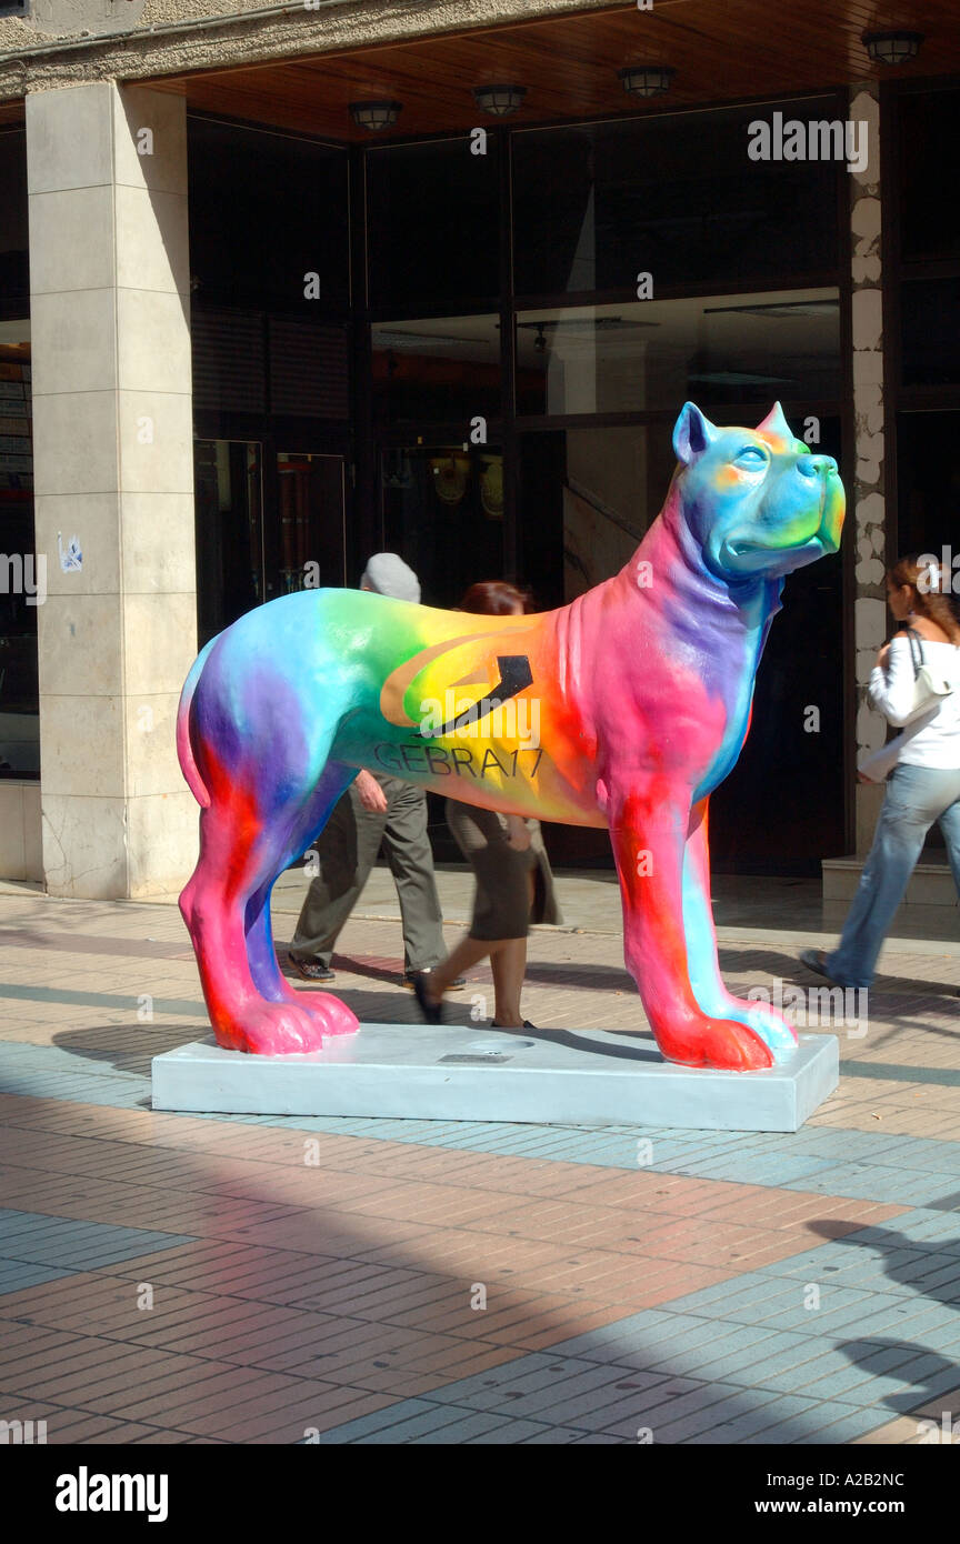
<path id="1" fill-rule="evenodd" d="M 705 1011 L 690 976 L 684 922 L 684 852 L 690 791 L 637 774 L 608 787 L 607 814 L 624 900 L 624 956 L 667 1061 L 755 1072 L 773 1055 L 756 1030 Z M 699 982 L 698 982 L 699 985 Z"/>

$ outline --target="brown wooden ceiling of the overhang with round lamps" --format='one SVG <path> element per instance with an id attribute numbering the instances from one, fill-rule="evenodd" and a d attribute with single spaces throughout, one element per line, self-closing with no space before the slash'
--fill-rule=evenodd
<path id="1" fill-rule="evenodd" d="M 861 34 L 892 28 L 925 34 L 920 57 L 895 68 L 870 65 Z M 670 93 L 650 102 L 628 97 L 617 69 L 651 62 L 676 69 Z M 866 76 L 949 74 L 960 74 L 957 0 L 654 0 L 650 11 L 631 0 L 608 11 L 150 83 L 185 94 L 191 108 L 363 142 L 370 136 L 352 124 L 350 102 L 403 103 L 395 130 L 380 139 L 465 131 L 494 122 L 471 94 L 485 82 L 528 88 L 509 119 L 522 125 L 784 96 Z"/>

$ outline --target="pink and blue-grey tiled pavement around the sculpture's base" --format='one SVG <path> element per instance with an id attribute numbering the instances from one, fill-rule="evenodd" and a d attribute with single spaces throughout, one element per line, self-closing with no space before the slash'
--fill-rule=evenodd
<path id="1" fill-rule="evenodd" d="M 469 877 L 440 877 L 451 940 Z M 303 875 L 284 879 L 276 934 Z M 644 1028 L 613 875 L 562 875 L 525 1013 Z M 715 882 L 733 990 L 843 908 Z M 335 959 L 412 1022 L 389 875 Z M 176 909 L 0 886 L 0 1419 L 49 1442 L 918 1442 L 960 1419 L 960 925 L 904 908 L 795 1136 L 153 1113 L 207 1033 Z M 304 988 L 310 990 L 310 988 Z M 489 971 L 451 999 L 491 1005 Z"/>

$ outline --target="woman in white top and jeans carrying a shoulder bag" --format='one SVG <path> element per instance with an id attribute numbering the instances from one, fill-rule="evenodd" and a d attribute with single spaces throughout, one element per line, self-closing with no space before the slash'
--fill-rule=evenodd
<path id="1" fill-rule="evenodd" d="M 949 581 L 948 573 L 946 585 Z M 880 650 L 869 696 L 904 733 L 894 743 L 900 747 L 897 766 L 840 943 L 832 954 L 801 954 L 810 970 L 838 987 L 872 984 L 886 931 L 934 821 L 940 823 L 960 894 L 960 625 L 937 567 L 921 568 L 914 557 L 901 557 L 887 573 L 886 590 L 903 630 Z M 920 713 L 908 628 L 920 635 L 923 664 L 940 690 L 952 687 Z"/>

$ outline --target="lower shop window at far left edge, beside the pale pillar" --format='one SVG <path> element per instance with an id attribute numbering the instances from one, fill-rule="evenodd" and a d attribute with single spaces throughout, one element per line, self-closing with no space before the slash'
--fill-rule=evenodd
<path id="1" fill-rule="evenodd" d="M 40 775 L 37 605 L 46 565 L 34 551 L 29 323 L 0 323 L 0 777 Z"/>

